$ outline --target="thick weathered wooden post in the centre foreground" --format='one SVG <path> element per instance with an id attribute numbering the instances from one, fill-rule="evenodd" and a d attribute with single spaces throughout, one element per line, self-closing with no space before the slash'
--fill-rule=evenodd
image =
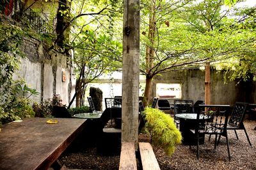
<path id="1" fill-rule="evenodd" d="M 122 142 L 138 145 L 140 76 L 140 1 L 124 1 Z M 136 145 L 136 146 L 137 146 Z"/>

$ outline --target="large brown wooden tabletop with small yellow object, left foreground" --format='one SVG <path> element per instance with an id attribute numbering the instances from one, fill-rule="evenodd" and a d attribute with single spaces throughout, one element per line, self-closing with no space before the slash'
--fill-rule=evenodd
<path id="1" fill-rule="evenodd" d="M 0 132 L 0 169 L 47 169 L 84 128 L 85 119 L 27 118 L 3 125 Z"/>

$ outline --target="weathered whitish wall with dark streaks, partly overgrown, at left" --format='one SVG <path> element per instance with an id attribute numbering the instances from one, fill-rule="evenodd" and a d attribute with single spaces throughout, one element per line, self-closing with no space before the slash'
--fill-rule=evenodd
<path id="1" fill-rule="evenodd" d="M 76 78 L 72 67 L 67 65 L 67 56 L 47 52 L 42 42 L 33 38 L 24 38 L 21 50 L 26 58 L 21 60 L 20 69 L 14 78 L 24 78 L 31 88 L 40 92 L 40 95 L 33 97 L 35 101 L 40 102 L 51 98 L 53 94 L 59 94 L 63 104 L 68 104 L 74 95 Z"/>

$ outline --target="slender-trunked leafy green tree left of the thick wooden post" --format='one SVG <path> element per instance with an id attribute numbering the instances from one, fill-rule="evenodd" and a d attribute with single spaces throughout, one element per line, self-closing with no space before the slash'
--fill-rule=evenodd
<path id="1" fill-rule="evenodd" d="M 120 4 L 118 1 L 74 1 L 76 8 L 72 8 L 70 39 L 66 45 L 74 49 L 77 84 L 68 108 L 76 97 L 77 106 L 83 104 L 88 83 L 103 73 L 122 67 L 122 44 L 118 31 L 121 28 L 118 23 Z"/>

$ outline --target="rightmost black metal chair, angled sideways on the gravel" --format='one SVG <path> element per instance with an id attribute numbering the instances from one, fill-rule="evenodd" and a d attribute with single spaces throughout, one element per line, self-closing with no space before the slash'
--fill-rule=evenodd
<path id="1" fill-rule="evenodd" d="M 248 134 L 246 132 L 246 129 L 244 127 L 244 124 L 243 124 L 243 120 L 244 120 L 244 116 L 245 116 L 245 113 L 246 113 L 246 107 L 247 106 L 248 106 L 248 103 L 241 103 L 241 102 L 236 102 L 235 103 L 235 106 L 234 106 L 234 109 L 232 111 L 231 117 L 228 120 L 227 130 L 234 130 L 237 140 L 239 138 L 237 136 L 236 130 L 244 130 L 246 138 L 247 138 L 250 146 L 252 146 L 252 143 L 250 142 L 249 136 L 248 136 Z M 221 134 L 221 136 L 227 136 L 227 132 Z M 221 136 L 219 137 L 219 140 L 220 140 Z"/>

